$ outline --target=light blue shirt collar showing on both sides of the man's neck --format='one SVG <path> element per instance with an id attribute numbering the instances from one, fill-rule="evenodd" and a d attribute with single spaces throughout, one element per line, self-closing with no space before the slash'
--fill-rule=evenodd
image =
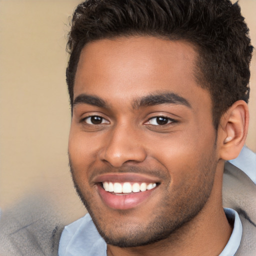
<path id="1" fill-rule="evenodd" d="M 224 208 L 224 211 L 227 218 L 234 221 L 234 227 L 219 256 L 233 256 L 241 241 L 242 224 L 235 210 Z M 59 256 L 106 256 L 106 243 L 88 213 L 64 228 L 58 253 Z"/>

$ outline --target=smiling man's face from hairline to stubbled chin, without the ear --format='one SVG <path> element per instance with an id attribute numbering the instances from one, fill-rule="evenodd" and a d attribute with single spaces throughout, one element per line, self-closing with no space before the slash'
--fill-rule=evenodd
<path id="1" fill-rule="evenodd" d="M 187 42 L 146 36 L 98 40 L 81 52 L 70 165 L 110 244 L 166 238 L 213 207 L 216 133 L 195 57 Z"/>

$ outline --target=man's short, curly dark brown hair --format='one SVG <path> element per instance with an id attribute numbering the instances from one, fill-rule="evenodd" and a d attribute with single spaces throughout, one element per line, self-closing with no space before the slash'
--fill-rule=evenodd
<path id="1" fill-rule="evenodd" d="M 149 35 L 197 49 L 198 84 L 209 90 L 213 125 L 236 100 L 248 102 L 253 47 L 240 7 L 229 0 L 86 0 L 72 17 L 66 81 L 72 108 L 81 49 L 90 41 Z"/>

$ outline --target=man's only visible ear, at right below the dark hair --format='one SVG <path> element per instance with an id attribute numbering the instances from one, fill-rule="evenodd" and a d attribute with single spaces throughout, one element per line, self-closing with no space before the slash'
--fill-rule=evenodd
<path id="1" fill-rule="evenodd" d="M 218 129 L 219 157 L 231 160 L 238 156 L 244 145 L 249 123 L 245 101 L 235 101 L 220 118 Z"/>

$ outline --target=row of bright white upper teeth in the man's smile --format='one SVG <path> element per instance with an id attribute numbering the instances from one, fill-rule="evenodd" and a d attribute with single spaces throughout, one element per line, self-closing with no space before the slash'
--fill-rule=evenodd
<path id="1" fill-rule="evenodd" d="M 139 184 L 139 183 L 133 183 L 131 184 L 130 182 L 124 182 L 124 183 L 119 183 L 119 182 L 103 182 L 103 188 L 105 191 L 108 192 L 114 192 L 114 193 L 136 193 L 139 191 L 145 191 L 152 189 L 156 186 L 156 183 L 149 183 L 146 184 L 145 182 Z"/>

